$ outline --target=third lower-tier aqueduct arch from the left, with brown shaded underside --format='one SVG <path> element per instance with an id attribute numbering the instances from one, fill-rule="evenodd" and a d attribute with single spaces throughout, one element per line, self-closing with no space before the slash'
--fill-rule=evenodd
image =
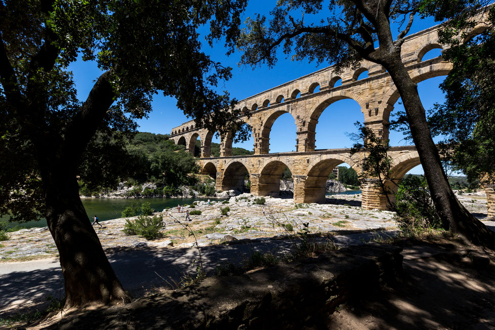
<path id="1" fill-rule="evenodd" d="M 294 173 L 293 164 L 281 157 L 270 157 L 259 170 L 258 182 L 252 182 L 253 193 L 260 196 L 276 195 L 280 192 L 280 179 L 283 171 L 289 168 Z"/>

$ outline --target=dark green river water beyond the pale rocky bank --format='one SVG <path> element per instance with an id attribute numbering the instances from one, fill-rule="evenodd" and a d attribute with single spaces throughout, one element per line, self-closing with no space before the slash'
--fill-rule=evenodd
<path id="1" fill-rule="evenodd" d="M 151 208 L 156 211 L 162 211 L 164 208 L 174 208 L 177 204 L 192 204 L 195 200 L 208 200 L 207 198 L 82 198 L 84 208 L 89 218 L 96 215 L 100 221 L 117 219 L 122 217 L 122 211 L 132 203 L 138 203 L 141 205 L 144 202 L 149 202 Z M 223 199 L 213 199 L 223 200 Z M 8 220 L 8 216 L 2 217 L 2 220 Z M 89 221 L 89 220 L 88 220 Z M 45 227 L 47 221 L 45 219 L 40 221 L 29 221 L 24 223 L 12 222 L 9 227 L 15 227 L 16 225 L 22 227 Z"/>

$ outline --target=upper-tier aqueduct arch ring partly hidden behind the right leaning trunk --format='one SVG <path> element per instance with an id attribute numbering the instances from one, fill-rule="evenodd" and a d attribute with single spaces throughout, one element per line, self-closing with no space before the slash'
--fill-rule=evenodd
<path id="1" fill-rule="evenodd" d="M 427 67 L 418 68 L 410 72 L 409 75 L 412 81 L 418 84 L 421 83 L 421 81 L 424 81 L 429 78 L 438 77 L 441 75 L 447 75 L 450 72 L 450 70 L 452 70 L 451 63 L 441 62 L 441 63 L 432 64 Z M 385 107 L 385 111 L 383 112 L 382 119 L 385 122 L 388 122 L 390 118 L 390 113 L 394 109 L 394 105 L 399 98 L 400 98 L 399 91 L 397 91 L 395 85 L 392 85 L 392 87 L 385 93 L 385 97 L 384 97 L 384 100 L 386 101 L 385 103 L 386 107 Z"/>

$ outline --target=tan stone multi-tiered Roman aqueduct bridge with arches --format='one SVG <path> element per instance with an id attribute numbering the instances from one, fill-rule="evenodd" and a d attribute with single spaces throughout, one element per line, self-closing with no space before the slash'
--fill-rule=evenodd
<path id="1" fill-rule="evenodd" d="M 402 61 L 416 83 L 446 75 L 451 69 L 451 64 L 441 57 L 423 61 L 423 56 L 430 50 L 442 49 L 438 43 L 437 29 L 438 26 L 434 26 L 412 34 L 402 45 Z M 368 71 L 368 77 L 358 80 L 364 71 Z M 335 87 L 340 79 L 342 85 Z M 317 87 L 319 91 L 315 92 Z M 247 171 L 253 194 L 278 193 L 282 172 L 288 167 L 294 177 L 295 201 L 320 202 L 324 200 L 329 173 L 346 162 L 359 174 L 360 160 L 364 156 L 362 153 L 351 156 L 349 149 L 315 149 L 315 129 L 320 114 L 338 100 L 353 99 L 361 107 L 364 125 L 383 139 L 388 139 L 386 124 L 398 98 L 399 93 L 390 75 L 381 65 L 363 61 L 358 69 L 345 70 L 340 74 L 334 72 L 331 66 L 238 102 L 238 107 L 250 109 L 252 114 L 250 118 L 240 119 L 252 127 L 254 155 L 232 156 L 232 136 L 229 134 L 221 137 L 220 157 L 211 157 L 210 146 L 215 132 L 195 127 L 193 120 L 174 128 L 170 139 L 194 152 L 196 139 L 200 137 L 201 171 L 216 176 L 219 190 L 239 190 Z M 271 127 L 284 113 L 290 113 L 296 123 L 296 152 L 270 154 Z M 415 147 L 392 147 L 390 156 L 395 180 L 400 180 L 407 171 L 420 164 Z M 493 186 L 486 188 L 489 195 L 488 214 L 495 217 Z M 363 208 L 386 208 L 386 197 L 377 188 L 376 180 L 369 179 L 363 183 L 362 192 Z"/>

